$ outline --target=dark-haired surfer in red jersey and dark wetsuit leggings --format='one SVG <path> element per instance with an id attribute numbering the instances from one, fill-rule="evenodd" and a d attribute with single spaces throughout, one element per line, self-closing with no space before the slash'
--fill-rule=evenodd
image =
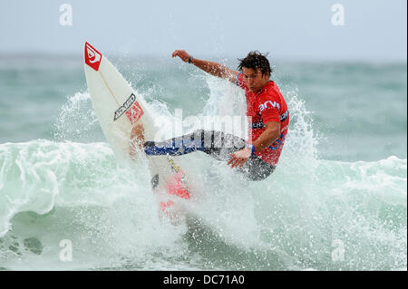
<path id="1" fill-rule="evenodd" d="M 249 180 L 261 180 L 272 174 L 286 140 L 289 112 L 277 84 L 270 80 L 272 70 L 266 55 L 257 51 L 248 53 L 247 57 L 238 59 L 238 71 L 220 63 L 199 60 L 184 50 L 176 50 L 172 57 L 179 57 L 184 63 L 245 90 L 248 141 L 216 130 L 195 130 L 160 142 L 144 141 L 144 129 L 139 123 L 131 131 L 131 155 L 136 153 L 136 147 L 147 155 L 179 156 L 199 150 L 227 161 Z"/>

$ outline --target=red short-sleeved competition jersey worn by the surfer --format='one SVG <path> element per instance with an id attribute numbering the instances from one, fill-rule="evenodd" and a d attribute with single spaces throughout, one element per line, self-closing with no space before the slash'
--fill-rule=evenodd
<path id="1" fill-rule="evenodd" d="M 266 130 L 265 123 L 280 122 L 280 136 L 269 147 L 256 151 L 257 157 L 269 164 L 277 165 L 285 143 L 289 125 L 287 102 L 277 88 L 275 82 L 269 81 L 260 92 L 250 92 L 244 82 L 244 75 L 238 74 L 236 84 L 245 90 L 247 98 L 248 143 L 252 143 Z"/>

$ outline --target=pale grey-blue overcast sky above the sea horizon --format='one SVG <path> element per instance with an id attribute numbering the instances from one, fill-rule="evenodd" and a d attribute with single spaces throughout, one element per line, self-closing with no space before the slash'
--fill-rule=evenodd
<path id="1" fill-rule="evenodd" d="M 406 0 L 0 0 L 0 53 L 83 53 L 89 41 L 135 55 L 406 61 L 406 11 Z"/>

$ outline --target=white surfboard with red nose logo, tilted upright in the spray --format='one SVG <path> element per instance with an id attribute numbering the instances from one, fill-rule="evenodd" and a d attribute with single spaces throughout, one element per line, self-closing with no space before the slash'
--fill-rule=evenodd
<path id="1" fill-rule="evenodd" d="M 148 105 L 141 95 L 131 88 L 107 57 L 90 43 L 85 43 L 84 70 L 92 106 L 106 140 L 117 159 L 130 160 L 132 127 L 141 123 L 145 140 L 153 140 L 160 128 L 155 126 Z M 159 197 L 161 211 L 169 215 L 174 207 L 174 197 L 190 197 L 184 171 L 169 156 L 149 156 L 147 159 L 151 188 Z M 162 192 L 167 196 L 163 197 Z"/>

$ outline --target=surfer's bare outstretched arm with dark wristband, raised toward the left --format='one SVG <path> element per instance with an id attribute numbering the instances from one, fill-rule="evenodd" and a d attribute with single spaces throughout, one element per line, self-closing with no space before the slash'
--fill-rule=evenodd
<path id="1" fill-rule="evenodd" d="M 199 60 L 197 58 L 192 57 L 192 55 L 190 55 L 184 50 L 176 50 L 174 53 L 171 54 L 171 56 L 172 57 L 179 56 L 183 62 L 194 64 L 204 72 L 226 79 L 229 82 L 235 83 L 237 81 L 238 72 L 233 71 L 232 69 L 228 68 L 223 64 Z"/>

